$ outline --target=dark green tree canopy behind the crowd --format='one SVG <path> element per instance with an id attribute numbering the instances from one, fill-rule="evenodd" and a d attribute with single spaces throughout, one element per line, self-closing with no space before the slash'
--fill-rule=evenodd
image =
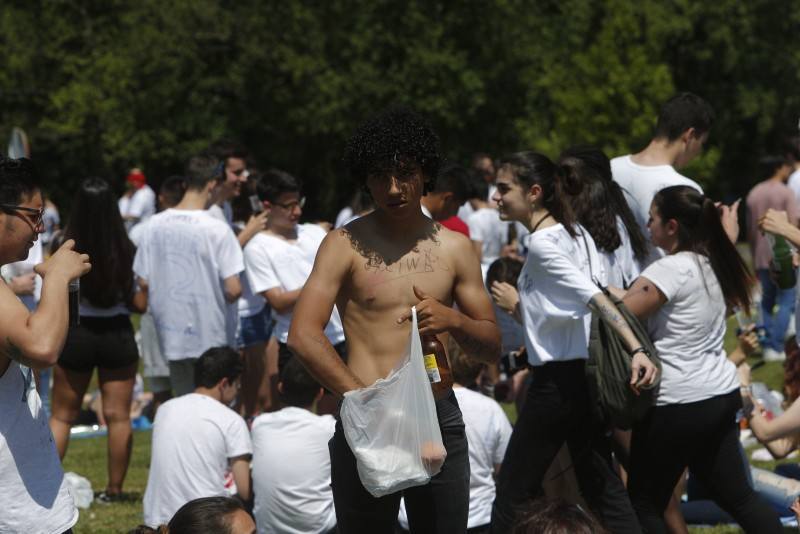
<path id="1" fill-rule="evenodd" d="M 800 3 L 778 0 L 275 2 L 10 0 L 0 6 L 0 135 L 24 128 L 57 202 L 89 175 L 158 182 L 234 139 L 332 217 L 360 184 L 344 142 L 393 103 L 466 162 L 648 141 L 660 104 L 715 108 L 685 173 L 731 199 L 796 135 Z"/>

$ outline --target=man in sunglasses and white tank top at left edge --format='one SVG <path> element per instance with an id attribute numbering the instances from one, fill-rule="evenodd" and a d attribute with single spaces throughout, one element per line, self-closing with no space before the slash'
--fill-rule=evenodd
<path id="1" fill-rule="evenodd" d="M 0 157 L 0 265 L 28 256 L 43 214 L 30 160 Z M 58 360 L 69 326 L 67 285 L 91 268 L 74 246 L 65 242 L 35 267 L 44 282 L 34 312 L 0 282 L 0 532 L 71 532 L 78 521 L 32 373 Z"/>

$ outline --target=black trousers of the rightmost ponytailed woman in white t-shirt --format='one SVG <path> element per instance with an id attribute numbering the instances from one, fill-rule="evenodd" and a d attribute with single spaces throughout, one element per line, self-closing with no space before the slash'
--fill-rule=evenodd
<path id="1" fill-rule="evenodd" d="M 667 532 L 664 510 L 687 467 L 746 532 L 783 532 L 778 514 L 748 482 L 739 452 L 739 390 L 652 408 L 634 425 L 628 490 L 645 532 Z"/>

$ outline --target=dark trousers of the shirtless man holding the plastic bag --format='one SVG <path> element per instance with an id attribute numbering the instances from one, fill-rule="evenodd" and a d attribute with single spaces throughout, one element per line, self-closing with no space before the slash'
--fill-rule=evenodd
<path id="1" fill-rule="evenodd" d="M 452 392 L 436 402 L 447 458 L 438 475 L 424 486 L 373 497 L 358 478 L 356 459 L 344 437 L 341 421 L 331 438 L 331 487 L 336 520 L 342 534 L 392 534 L 400 497 L 405 498 L 413 534 L 464 534 L 469 515 L 469 455 L 464 421 Z"/>

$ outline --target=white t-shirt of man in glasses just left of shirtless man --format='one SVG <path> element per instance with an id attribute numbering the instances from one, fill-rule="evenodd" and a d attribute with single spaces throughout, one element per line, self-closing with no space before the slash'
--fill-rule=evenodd
<path id="1" fill-rule="evenodd" d="M 259 232 L 244 247 L 244 261 L 250 288 L 255 294 L 279 287 L 292 291 L 305 285 L 314 267 L 317 249 L 325 238 L 325 230 L 316 224 L 297 226 L 297 239 L 287 241 L 281 237 Z M 289 337 L 292 312 L 273 310 L 275 328 L 272 335 L 281 343 Z M 336 307 L 325 327 L 325 335 L 334 345 L 344 341 L 342 320 Z"/>

